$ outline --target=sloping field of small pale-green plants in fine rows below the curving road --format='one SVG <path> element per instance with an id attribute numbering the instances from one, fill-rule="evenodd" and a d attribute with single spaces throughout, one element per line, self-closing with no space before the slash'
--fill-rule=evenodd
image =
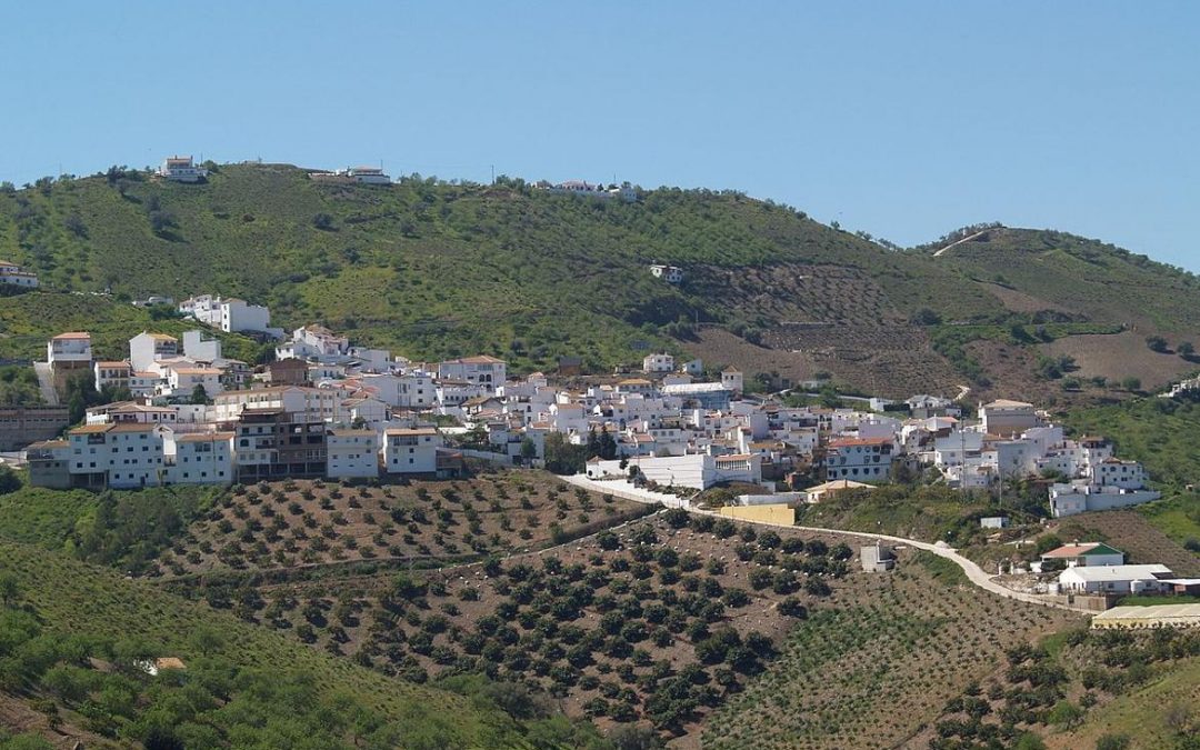
<path id="1" fill-rule="evenodd" d="M 960 581 L 953 563 L 904 556 L 895 572 L 797 628 L 767 672 L 706 725 L 704 746 L 905 745 L 1006 648 L 1080 623 Z"/>

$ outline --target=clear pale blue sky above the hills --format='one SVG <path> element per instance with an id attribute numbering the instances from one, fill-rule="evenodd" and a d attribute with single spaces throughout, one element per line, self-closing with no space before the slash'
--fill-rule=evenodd
<path id="1" fill-rule="evenodd" d="M 168 152 L 737 188 L 1200 271 L 1200 2 L 5 2 L 0 180 Z"/>

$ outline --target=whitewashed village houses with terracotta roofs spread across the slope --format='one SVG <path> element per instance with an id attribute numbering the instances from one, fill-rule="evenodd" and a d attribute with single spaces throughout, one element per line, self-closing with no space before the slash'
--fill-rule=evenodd
<path id="1" fill-rule="evenodd" d="M 683 270 L 653 264 L 648 272 L 678 283 Z M 62 437 L 25 448 L 31 485 L 446 479 L 464 475 L 472 460 L 547 468 L 595 491 L 689 510 L 713 511 L 710 497 L 703 506 L 694 502 L 730 487 L 715 512 L 780 526 L 841 492 L 918 479 L 996 492 L 1001 504 L 1006 485 L 1044 487 L 1052 520 L 1159 497 L 1141 464 L 1116 456 L 1110 440 L 1067 437 L 1046 412 L 1021 401 L 972 409 L 914 395 L 827 404 L 810 394 L 797 403 L 787 392 L 748 392 L 733 367 L 706 371 L 698 359 L 662 352 L 646 355 L 640 372 L 584 376 L 568 359 L 553 376 L 510 377 L 506 362 L 488 355 L 420 362 L 354 346 L 318 324 L 287 332 L 270 325 L 265 306 L 236 298 L 137 304 L 164 302 L 197 328 L 181 338 L 143 331 L 121 360 L 96 359 L 85 331 L 47 342 L 44 368 L 56 391 L 83 377 L 115 400 L 88 407 L 84 424 Z M 274 342 L 272 361 L 224 356 L 216 331 Z M 64 419 L 43 428 L 61 431 Z M 1002 511 L 979 520 L 988 529 L 1009 522 Z M 887 571 L 894 553 L 876 540 L 862 558 L 864 570 Z M 1094 611 L 1129 594 L 1200 590 L 1200 581 L 1165 565 L 1126 564 L 1123 552 L 1100 542 L 1063 545 L 1028 569 L 997 572 L 1036 576 L 1036 584 L 1027 577 L 1013 584 L 1020 595 Z M 1105 612 L 1096 626 L 1138 626 L 1127 619 L 1157 608 L 1126 610 Z"/>

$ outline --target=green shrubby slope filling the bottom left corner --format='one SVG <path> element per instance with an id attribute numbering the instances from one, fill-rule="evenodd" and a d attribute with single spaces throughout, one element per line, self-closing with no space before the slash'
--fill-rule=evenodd
<path id="1" fill-rule="evenodd" d="M 212 748 L 518 742 L 498 709 L 389 680 L 107 569 L 8 542 L 0 569 L 18 592 L 0 613 L 4 690 L 89 732 L 148 746 L 151 737 Z M 134 666 L 163 655 L 187 668 L 151 679 Z"/>

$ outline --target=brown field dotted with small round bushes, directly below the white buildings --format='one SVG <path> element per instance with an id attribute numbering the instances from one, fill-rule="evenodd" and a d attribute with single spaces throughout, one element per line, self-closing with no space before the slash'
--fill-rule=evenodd
<path id="1" fill-rule="evenodd" d="M 298 480 L 238 486 L 164 552 L 152 576 L 388 563 L 535 550 L 644 512 L 570 492 L 544 472 L 406 485 Z"/>

